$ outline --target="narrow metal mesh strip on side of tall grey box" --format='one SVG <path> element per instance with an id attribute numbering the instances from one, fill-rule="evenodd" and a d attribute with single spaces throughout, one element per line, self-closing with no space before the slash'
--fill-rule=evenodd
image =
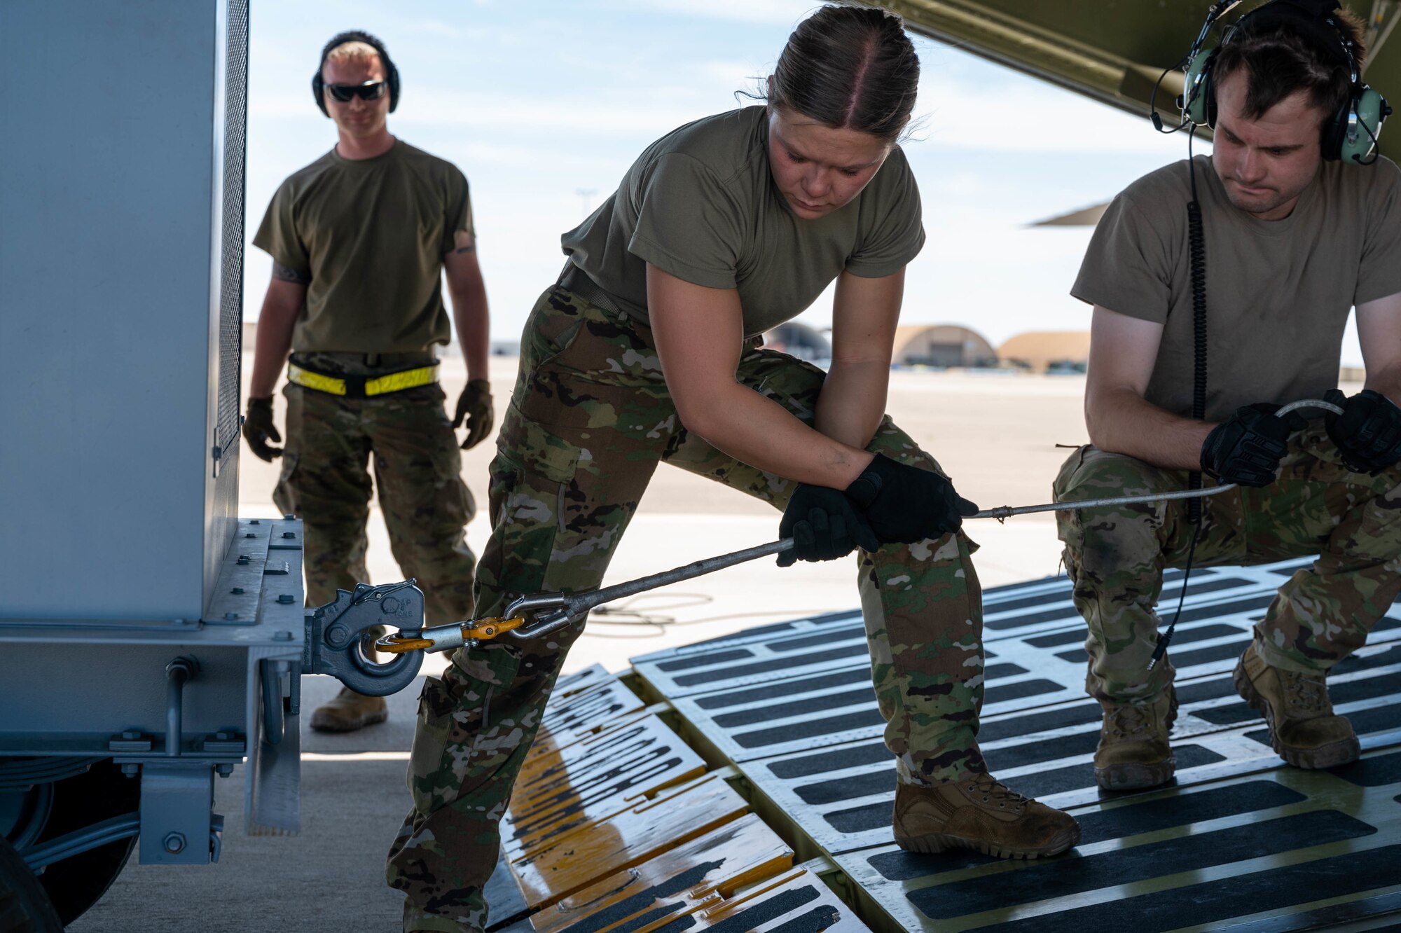
<path id="1" fill-rule="evenodd" d="M 244 321 L 244 130 L 248 119 L 248 0 L 228 0 L 224 85 L 223 269 L 219 307 L 219 462 L 238 450 Z"/>

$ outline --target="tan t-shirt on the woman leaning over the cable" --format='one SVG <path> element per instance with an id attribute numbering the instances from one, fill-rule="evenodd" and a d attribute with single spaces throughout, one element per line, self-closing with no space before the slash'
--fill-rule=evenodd
<path id="1" fill-rule="evenodd" d="M 699 286 L 738 289 L 747 336 L 797 317 L 843 269 L 874 279 L 919 254 L 919 189 L 898 147 L 850 203 L 803 220 L 769 174 L 768 129 L 766 108 L 747 106 L 663 136 L 562 237 L 565 252 L 643 319 L 649 262 Z"/>

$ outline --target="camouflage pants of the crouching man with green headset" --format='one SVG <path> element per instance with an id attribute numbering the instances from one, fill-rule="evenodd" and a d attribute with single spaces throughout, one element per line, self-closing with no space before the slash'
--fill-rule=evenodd
<path id="1" fill-rule="evenodd" d="M 1171 492 L 1187 489 L 1187 471 L 1086 445 L 1061 468 L 1055 497 Z M 1366 642 L 1401 594 L 1401 468 L 1376 478 L 1351 472 L 1321 420 L 1290 438 L 1271 486 L 1238 488 L 1201 503 L 1194 566 L 1318 555 L 1279 587 L 1255 625 L 1257 651 L 1268 664 L 1327 671 Z M 1163 569 L 1187 560 L 1188 503 L 1058 511 L 1056 521 L 1075 605 L 1090 629 L 1086 692 L 1100 700 L 1156 699 L 1173 682 L 1173 665 L 1146 670 L 1160 625 L 1153 607 Z"/>

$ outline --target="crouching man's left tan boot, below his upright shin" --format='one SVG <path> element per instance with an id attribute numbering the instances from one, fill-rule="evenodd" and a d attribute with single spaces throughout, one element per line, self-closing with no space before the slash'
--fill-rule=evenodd
<path id="1" fill-rule="evenodd" d="M 1173 779 L 1177 762 L 1167 737 L 1177 720 L 1171 686 L 1152 703 L 1108 703 L 1094 749 L 1094 783 L 1105 790 L 1157 787 Z"/>

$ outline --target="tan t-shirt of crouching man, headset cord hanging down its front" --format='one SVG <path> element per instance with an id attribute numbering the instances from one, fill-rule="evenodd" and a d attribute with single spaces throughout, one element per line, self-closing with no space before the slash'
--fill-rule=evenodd
<path id="1" fill-rule="evenodd" d="M 1254 402 L 1318 398 L 1338 384 L 1348 312 L 1401 293 L 1401 170 L 1324 163 L 1283 220 L 1226 199 L 1196 157 L 1206 241 L 1206 419 Z M 1129 185 L 1104 212 L 1070 294 L 1163 324 L 1145 398 L 1192 412 L 1187 161 Z"/>

